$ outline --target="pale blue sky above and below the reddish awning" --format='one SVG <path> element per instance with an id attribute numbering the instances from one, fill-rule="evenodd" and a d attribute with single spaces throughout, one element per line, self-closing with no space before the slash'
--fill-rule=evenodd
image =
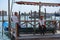
<path id="1" fill-rule="evenodd" d="M 60 0 L 14 0 L 15 1 L 29 1 L 29 2 L 48 2 L 48 3 L 60 3 Z M 10 3 L 12 2 L 12 0 L 10 0 Z M 10 5 L 11 6 L 11 5 Z M 60 7 L 45 7 L 42 6 L 41 7 L 41 11 L 44 11 L 44 8 L 46 8 L 46 12 L 47 13 L 54 13 L 55 11 L 57 12 Z M 5 10 L 8 11 L 8 0 L 0 0 L 0 10 Z M 39 10 L 39 6 L 33 6 L 33 5 L 18 5 L 16 3 L 13 3 L 13 8 L 12 11 L 20 11 L 22 12 L 30 12 L 30 11 L 37 11 Z"/>

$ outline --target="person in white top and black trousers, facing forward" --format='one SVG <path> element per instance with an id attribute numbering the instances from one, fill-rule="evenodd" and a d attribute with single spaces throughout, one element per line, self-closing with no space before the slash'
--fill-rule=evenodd
<path id="1" fill-rule="evenodd" d="M 46 32 L 46 21 L 44 20 L 44 16 L 40 16 L 40 19 L 39 19 L 39 30 L 40 30 L 40 33 L 41 34 L 45 34 Z"/>

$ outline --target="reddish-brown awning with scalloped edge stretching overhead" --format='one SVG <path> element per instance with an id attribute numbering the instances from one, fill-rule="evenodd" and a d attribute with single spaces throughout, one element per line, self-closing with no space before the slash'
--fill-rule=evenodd
<path id="1" fill-rule="evenodd" d="M 19 1 L 15 2 L 17 4 L 23 4 L 23 5 L 41 5 L 41 6 L 60 6 L 60 3 L 43 3 L 43 2 L 25 2 L 25 1 Z"/>

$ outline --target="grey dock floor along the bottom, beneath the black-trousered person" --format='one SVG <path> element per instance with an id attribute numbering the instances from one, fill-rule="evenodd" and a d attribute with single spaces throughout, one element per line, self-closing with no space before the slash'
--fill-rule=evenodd
<path id="1" fill-rule="evenodd" d="M 54 35 L 52 33 L 46 33 L 45 35 L 20 34 L 20 37 L 18 37 L 18 39 L 19 40 L 60 40 L 60 33 L 57 31 L 57 33 L 55 33 Z"/>

